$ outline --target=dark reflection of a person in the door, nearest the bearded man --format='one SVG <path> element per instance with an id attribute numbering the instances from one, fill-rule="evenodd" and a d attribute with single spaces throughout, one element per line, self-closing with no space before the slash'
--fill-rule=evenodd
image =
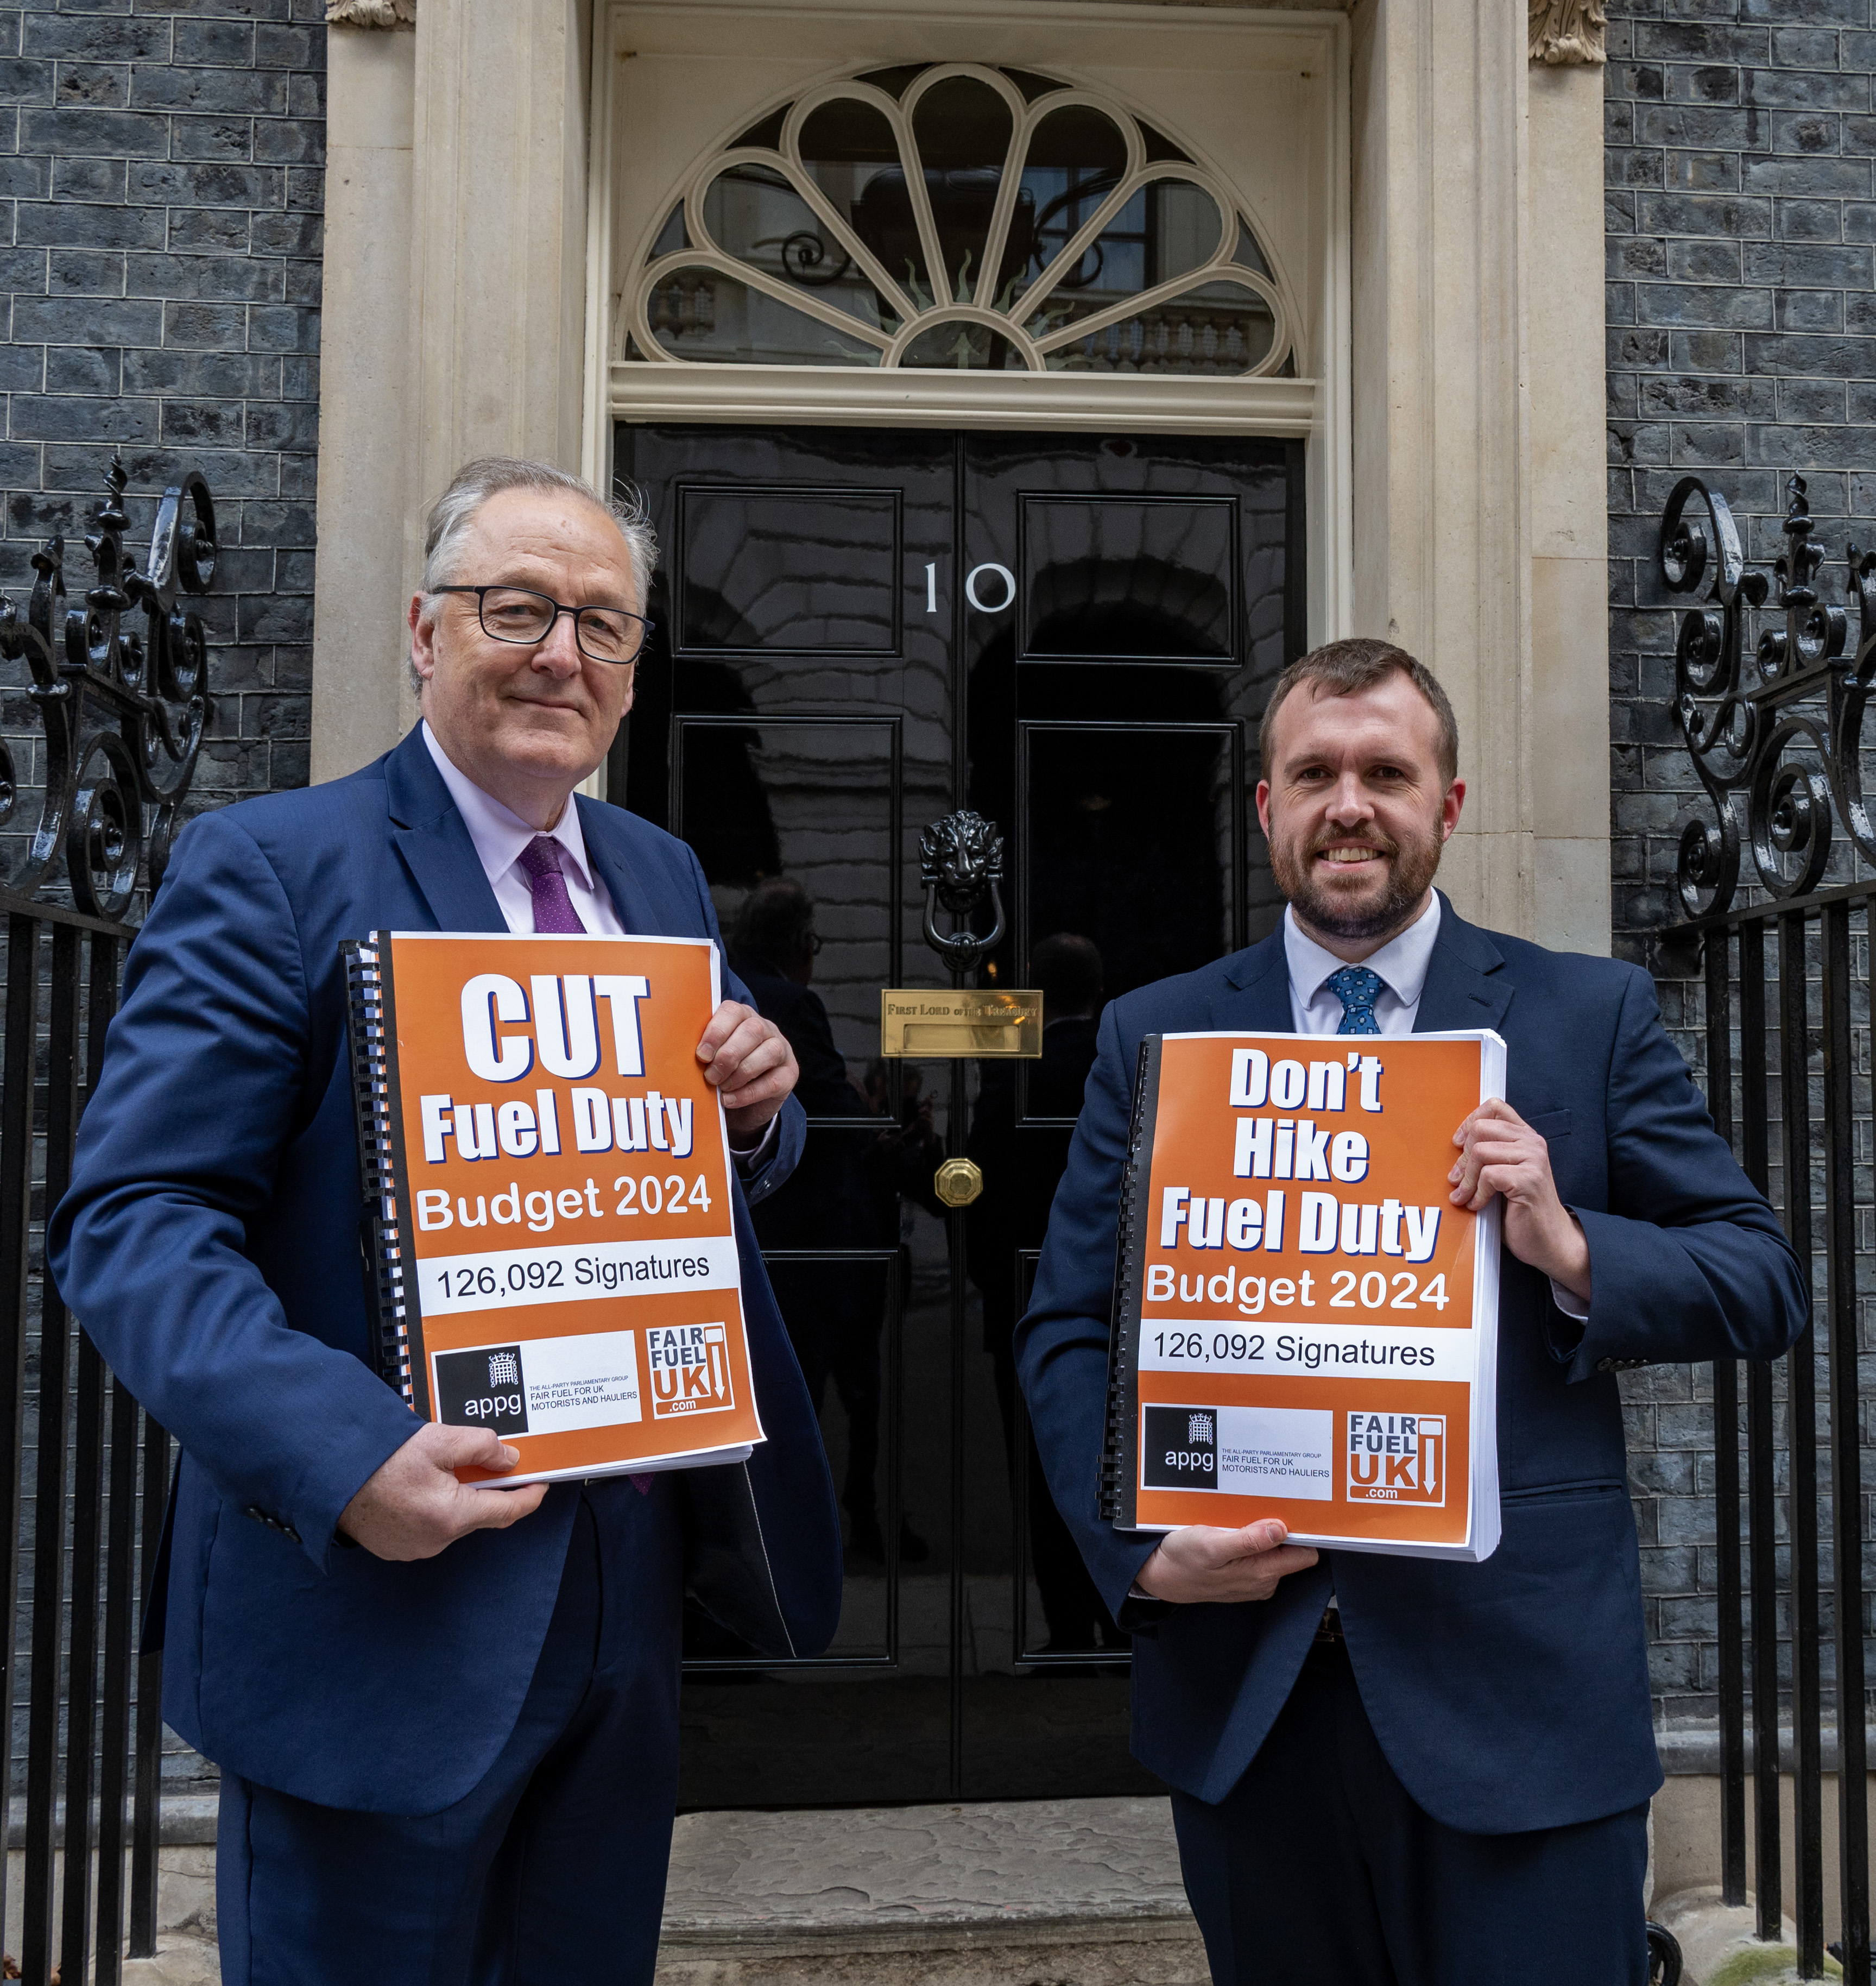
<path id="1" fill-rule="evenodd" d="M 983 1192 L 965 1213 L 965 1261 L 983 1301 L 983 1343 L 997 1376 L 1010 1493 L 1016 1470 L 1028 1470 L 1028 1553 L 1048 1638 L 1044 1654 L 1092 1654 L 1126 1648 L 1100 1589 L 1048 1493 L 1034 1436 L 1016 1416 L 1016 1271 L 1022 1249 L 1042 1245 L 1048 1206 L 1068 1158 L 1062 1132 L 1016 1128 L 1016 1070 L 1028 1076 L 1028 1118 L 1076 1118 L 1094 1064 L 1102 1011 L 1102 955 L 1076 931 L 1056 931 L 1030 951 L 1028 981 L 1042 993 L 1042 1055 L 1034 1063 L 985 1063 L 967 1154 L 983 1172 Z"/>

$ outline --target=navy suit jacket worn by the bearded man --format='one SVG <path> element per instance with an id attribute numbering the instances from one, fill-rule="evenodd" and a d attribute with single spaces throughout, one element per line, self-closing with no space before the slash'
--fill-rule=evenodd
<path id="1" fill-rule="evenodd" d="M 1139 1041 L 1290 1027 L 1280 931 L 1102 1015 L 1016 1358 L 1056 1503 L 1116 1613 L 1157 1543 L 1094 1513 Z M 1807 1289 L 1771 1207 L 1715 1136 L 1646 973 L 1481 931 L 1441 900 L 1415 1027 L 1505 1037 L 1509 1100 L 1548 1140 L 1558 1194 L 1590 1243 L 1588 1325 L 1570 1323 L 1548 1281 L 1507 1249 L 1499 1549 L 1483 1565 L 1324 1553 L 1261 1605 L 1134 1603 L 1145 1617 L 1134 1750 L 1171 1785 L 1223 1799 L 1290 1694 L 1334 1587 L 1362 1702 L 1402 1783 L 1451 1827 L 1515 1833 L 1618 1813 L 1662 1783 L 1614 1362 L 1771 1358 L 1803 1331 Z"/>

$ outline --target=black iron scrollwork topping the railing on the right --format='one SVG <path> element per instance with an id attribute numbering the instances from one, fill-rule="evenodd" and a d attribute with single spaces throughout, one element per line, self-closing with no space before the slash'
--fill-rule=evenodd
<path id="1" fill-rule="evenodd" d="M 1725 496 L 1683 477 L 1662 514 L 1668 590 L 1697 592 L 1713 568 L 1711 604 L 1681 616 L 1674 653 L 1674 713 L 1717 816 L 1681 830 L 1675 886 L 1689 918 L 1723 912 L 1739 888 L 1739 796 L 1753 870 L 1775 898 L 1805 896 L 1822 882 L 1838 826 L 1876 862 L 1860 751 L 1876 679 L 1876 554 L 1848 548 L 1860 641 L 1844 661 L 1848 616 L 1818 602 L 1814 580 L 1826 554 L 1812 542 L 1805 479 L 1791 477 L 1785 493 L 1787 550 L 1773 564 L 1785 626 L 1759 636 L 1757 683 L 1745 681 L 1745 626 L 1771 586 L 1745 568 Z"/>

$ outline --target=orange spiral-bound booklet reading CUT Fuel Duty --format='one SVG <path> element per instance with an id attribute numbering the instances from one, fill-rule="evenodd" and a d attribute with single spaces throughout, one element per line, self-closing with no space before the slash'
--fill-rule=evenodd
<path id="1" fill-rule="evenodd" d="M 717 947 L 373 931 L 345 971 L 379 1370 L 520 1450 L 463 1480 L 744 1460 Z"/>

